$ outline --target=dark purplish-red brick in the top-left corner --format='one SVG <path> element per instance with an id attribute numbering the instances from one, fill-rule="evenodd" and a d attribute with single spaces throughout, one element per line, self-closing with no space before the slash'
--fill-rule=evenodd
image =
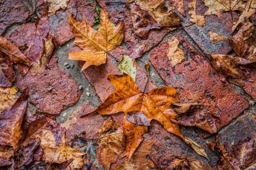
<path id="1" fill-rule="evenodd" d="M 0 34 L 13 23 L 25 22 L 31 15 L 22 0 L 1 1 L 0 6 Z"/>

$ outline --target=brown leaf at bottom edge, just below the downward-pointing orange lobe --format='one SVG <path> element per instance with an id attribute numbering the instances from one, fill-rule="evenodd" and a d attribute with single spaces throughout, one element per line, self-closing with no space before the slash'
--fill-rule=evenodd
<path id="1" fill-rule="evenodd" d="M 147 159 L 147 155 L 150 152 L 150 148 L 155 143 L 154 140 L 143 141 L 139 148 L 134 152 L 134 155 L 130 160 L 125 160 L 123 163 L 119 164 L 114 168 L 114 170 L 129 169 L 137 170 L 142 169 L 146 170 L 148 168 L 155 168 L 155 164 Z"/>

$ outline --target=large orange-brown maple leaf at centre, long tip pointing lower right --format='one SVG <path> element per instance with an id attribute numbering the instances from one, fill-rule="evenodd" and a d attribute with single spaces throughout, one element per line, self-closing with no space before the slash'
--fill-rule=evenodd
<path id="1" fill-rule="evenodd" d="M 125 115 L 128 112 L 143 113 L 149 122 L 155 119 L 166 131 L 181 137 L 195 152 L 208 158 L 203 148 L 188 137 L 184 137 L 179 129 L 175 120 L 177 113 L 170 108 L 172 103 L 178 102 L 174 87 L 160 87 L 145 93 L 141 92 L 134 80 L 126 74 L 109 75 L 108 79 L 116 90 L 92 113 L 100 115 L 112 115 L 120 111 Z"/>

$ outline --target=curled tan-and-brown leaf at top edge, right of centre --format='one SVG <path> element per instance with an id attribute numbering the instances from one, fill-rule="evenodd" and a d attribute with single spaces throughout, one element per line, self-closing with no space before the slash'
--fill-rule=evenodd
<path id="1" fill-rule="evenodd" d="M 136 4 L 141 9 L 147 10 L 148 14 L 153 17 L 160 27 L 177 26 L 182 21 L 174 10 L 164 10 L 164 0 L 137 0 Z"/>

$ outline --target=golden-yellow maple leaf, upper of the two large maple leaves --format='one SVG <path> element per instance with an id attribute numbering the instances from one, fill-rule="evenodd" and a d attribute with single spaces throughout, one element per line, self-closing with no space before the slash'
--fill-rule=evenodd
<path id="1" fill-rule="evenodd" d="M 69 23 L 75 36 L 74 44 L 83 49 L 79 52 L 70 52 L 69 59 L 85 61 L 82 70 L 90 65 L 106 63 L 108 52 L 119 46 L 124 38 L 124 22 L 114 26 L 104 9 L 100 12 L 98 31 L 94 30 L 85 20 L 77 22 L 70 17 Z"/>

